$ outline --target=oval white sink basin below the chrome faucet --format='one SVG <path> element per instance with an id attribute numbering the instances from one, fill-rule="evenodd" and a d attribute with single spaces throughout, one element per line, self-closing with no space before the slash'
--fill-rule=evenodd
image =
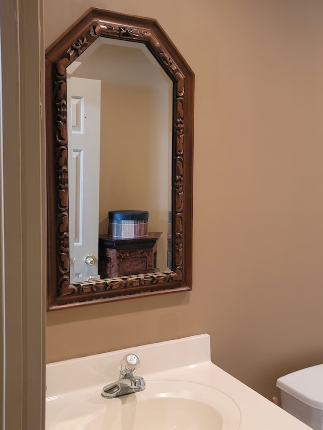
<path id="1" fill-rule="evenodd" d="M 50 430 L 237 430 L 240 410 L 225 393 L 185 381 L 147 380 L 114 399 L 94 392 L 61 408 Z M 47 428 L 47 427 L 46 427 Z"/>

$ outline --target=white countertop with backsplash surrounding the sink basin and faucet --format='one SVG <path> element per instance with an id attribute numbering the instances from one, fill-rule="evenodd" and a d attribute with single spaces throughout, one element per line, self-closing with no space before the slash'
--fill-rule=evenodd
<path id="1" fill-rule="evenodd" d="M 310 429 L 306 424 L 213 364 L 210 360 L 209 335 L 202 334 L 47 364 L 46 430 L 92 428 L 75 424 L 76 420 L 64 421 L 64 416 L 66 414 L 71 416 L 71 411 L 77 411 L 77 407 L 80 408 L 84 398 L 90 398 L 91 403 L 103 404 L 103 407 L 104 402 L 109 405 L 109 402 L 114 401 L 115 399 L 103 399 L 101 391 L 104 385 L 118 379 L 120 361 L 126 353 L 130 352 L 140 358 L 140 368 L 136 374 L 145 379 L 147 391 L 149 387 L 158 387 L 158 381 L 162 380 L 161 385 L 164 386 L 164 390 L 168 386 L 167 381 L 170 386 L 172 384 L 174 386 L 174 381 L 177 381 L 176 384 L 185 382 L 186 387 L 198 387 L 204 397 L 212 397 L 214 390 L 221 395 L 224 393 L 223 396 L 229 397 L 232 405 L 235 404 L 234 407 L 240 412 L 240 422 L 235 418 L 234 430 L 237 428 L 239 430 Z M 151 381 L 150 386 L 149 381 Z M 141 393 L 123 397 L 137 395 L 140 398 Z M 60 423 L 60 417 L 64 423 Z M 85 415 L 83 421 L 84 419 Z M 114 426 L 111 425 L 107 428 L 113 430 Z M 228 430 L 233 427 L 230 424 L 223 426 Z"/>

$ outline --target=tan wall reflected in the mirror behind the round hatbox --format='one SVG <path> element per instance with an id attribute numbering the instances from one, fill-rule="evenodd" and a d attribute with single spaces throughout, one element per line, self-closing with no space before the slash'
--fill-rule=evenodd
<path id="1" fill-rule="evenodd" d="M 99 234 L 107 234 L 109 211 L 148 211 L 148 230 L 163 233 L 157 267 L 167 270 L 171 116 L 159 92 L 102 82 Z"/>

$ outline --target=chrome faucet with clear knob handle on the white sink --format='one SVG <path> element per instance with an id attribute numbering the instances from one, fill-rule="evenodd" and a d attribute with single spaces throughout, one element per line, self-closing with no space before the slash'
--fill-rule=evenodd
<path id="1" fill-rule="evenodd" d="M 134 376 L 139 364 L 140 361 L 137 355 L 125 355 L 120 363 L 119 380 L 105 385 L 101 393 L 102 396 L 112 398 L 143 391 L 145 389 L 144 379 L 141 376 Z"/>

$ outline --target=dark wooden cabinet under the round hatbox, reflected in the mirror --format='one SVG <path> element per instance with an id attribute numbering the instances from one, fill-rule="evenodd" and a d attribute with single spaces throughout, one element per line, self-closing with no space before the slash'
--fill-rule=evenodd
<path id="1" fill-rule="evenodd" d="M 101 279 L 158 272 L 157 240 L 161 232 L 136 239 L 114 239 L 99 235 L 99 275 Z"/>

